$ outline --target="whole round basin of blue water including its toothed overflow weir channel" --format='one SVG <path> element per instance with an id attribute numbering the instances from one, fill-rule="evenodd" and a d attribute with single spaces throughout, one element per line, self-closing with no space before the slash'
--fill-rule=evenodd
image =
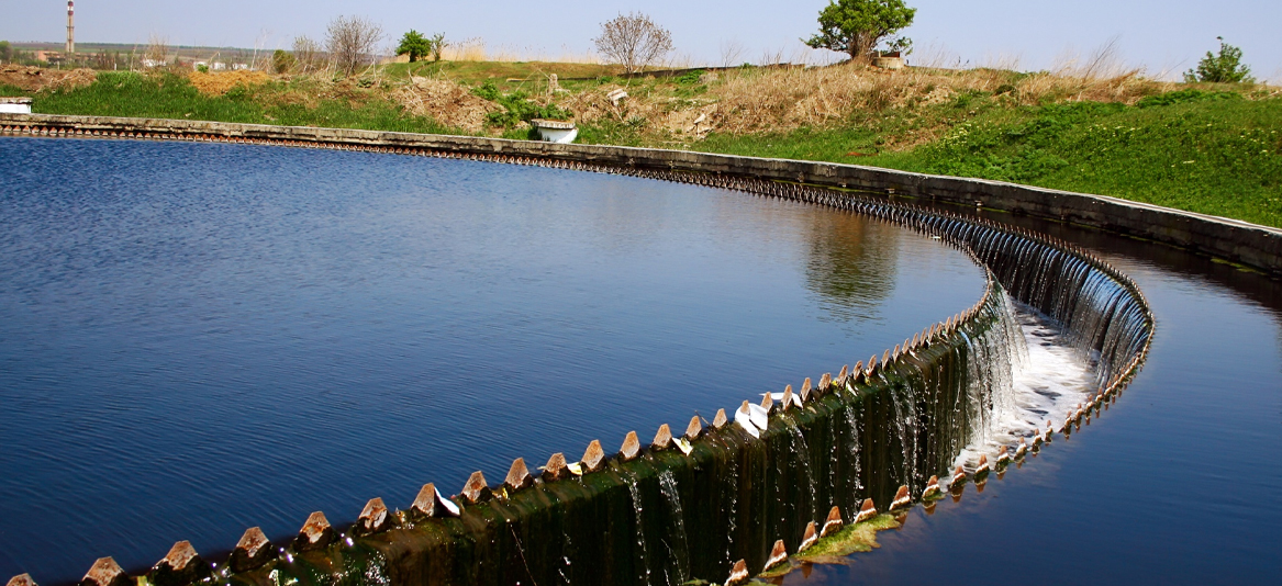
<path id="1" fill-rule="evenodd" d="M 41 583 L 809 576 L 1077 441 L 1155 324 L 1045 226 L 732 174 L 0 155 L 0 569 Z"/>

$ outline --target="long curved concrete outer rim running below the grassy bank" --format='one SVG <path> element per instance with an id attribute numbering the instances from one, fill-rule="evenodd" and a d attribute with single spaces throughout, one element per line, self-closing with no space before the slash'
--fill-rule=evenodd
<path id="1" fill-rule="evenodd" d="M 0 127 L 221 136 L 323 145 L 377 145 L 442 152 L 574 160 L 638 169 L 715 173 L 879 191 L 896 196 L 964 206 L 983 206 L 1099 228 L 1224 258 L 1268 273 L 1274 278 L 1282 278 L 1282 230 L 1274 228 L 1115 197 L 985 179 L 927 175 L 835 162 L 759 159 L 691 151 L 204 120 L 0 114 Z"/>

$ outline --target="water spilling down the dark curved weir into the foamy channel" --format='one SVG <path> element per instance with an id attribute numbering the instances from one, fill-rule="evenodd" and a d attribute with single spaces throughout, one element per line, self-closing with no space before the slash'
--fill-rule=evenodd
<path id="1" fill-rule="evenodd" d="M 846 522 L 864 499 L 886 511 L 900 486 L 919 496 L 928 476 L 946 477 L 1047 420 L 1061 424 L 1082 399 L 1115 390 L 1147 352 L 1154 320 L 1138 288 L 1064 242 L 809 186 L 573 165 L 896 223 L 970 255 L 987 288 L 974 307 L 817 389 L 804 404 L 776 404 L 759 432 L 723 425 L 733 412 L 720 413 L 688 443 L 620 453 L 532 486 L 495 486 L 474 493 L 476 500 L 458 496 L 456 513 L 453 505 L 433 507 L 444 516 L 426 518 L 396 512 L 381 534 L 320 550 L 281 549 L 229 582 L 649 586 L 662 573 L 668 585 L 720 583 L 740 562 L 747 574 L 762 572 L 777 541 L 795 553 L 806 526 L 833 507 Z"/>

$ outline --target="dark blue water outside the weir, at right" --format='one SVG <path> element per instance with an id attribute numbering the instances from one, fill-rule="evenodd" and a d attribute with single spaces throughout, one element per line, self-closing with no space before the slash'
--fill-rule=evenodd
<path id="1" fill-rule="evenodd" d="M 1158 320 L 1104 415 L 982 494 L 914 509 L 882 548 L 783 583 L 1276 583 L 1282 574 L 1282 284 L 1120 237 L 995 215 L 1079 242 Z"/>

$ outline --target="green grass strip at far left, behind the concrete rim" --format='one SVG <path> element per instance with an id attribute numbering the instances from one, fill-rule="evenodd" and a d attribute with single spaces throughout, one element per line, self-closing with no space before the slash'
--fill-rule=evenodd
<path id="1" fill-rule="evenodd" d="M 206 96 L 178 75 L 104 72 L 88 87 L 27 95 L 33 96 L 32 111 L 40 114 L 450 132 L 431 118 L 408 115 L 399 105 L 374 92 L 356 90 L 306 102 L 288 99 L 291 93 L 306 90 L 272 82 L 254 88 L 237 87 L 223 96 Z"/>

